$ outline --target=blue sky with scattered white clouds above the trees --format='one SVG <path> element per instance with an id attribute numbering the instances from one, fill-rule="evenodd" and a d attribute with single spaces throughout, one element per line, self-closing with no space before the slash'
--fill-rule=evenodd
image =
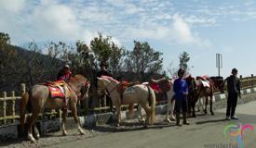
<path id="1" fill-rule="evenodd" d="M 163 53 L 164 69 L 189 53 L 192 75 L 221 75 L 232 68 L 256 75 L 256 1 L 253 0 L 0 0 L 0 31 L 11 43 L 89 43 L 98 32 L 132 50 L 148 42 Z"/>

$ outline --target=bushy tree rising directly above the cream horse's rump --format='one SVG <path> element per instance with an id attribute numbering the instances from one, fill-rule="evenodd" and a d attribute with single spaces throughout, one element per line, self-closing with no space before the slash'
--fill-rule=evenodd
<path id="1" fill-rule="evenodd" d="M 151 48 L 149 43 L 134 41 L 134 48 L 128 52 L 126 59 L 128 71 L 141 74 L 141 80 L 146 79 L 145 73 L 160 73 L 163 68 L 162 55 L 163 53 Z"/>

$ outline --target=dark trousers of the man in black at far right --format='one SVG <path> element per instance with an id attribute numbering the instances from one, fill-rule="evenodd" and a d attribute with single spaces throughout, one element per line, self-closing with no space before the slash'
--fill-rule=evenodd
<path id="1" fill-rule="evenodd" d="M 227 107 L 226 107 L 226 116 L 234 117 L 236 111 L 238 93 L 228 93 L 227 97 Z M 231 114 L 230 114 L 231 111 Z"/>

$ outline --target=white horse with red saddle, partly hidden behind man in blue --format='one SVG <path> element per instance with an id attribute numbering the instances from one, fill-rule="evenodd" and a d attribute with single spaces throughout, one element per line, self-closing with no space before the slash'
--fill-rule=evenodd
<path id="1" fill-rule="evenodd" d="M 151 79 L 149 81 L 149 85 L 153 88 L 155 93 L 164 93 L 164 95 L 167 97 L 168 103 L 167 103 L 166 120 L 169 123 L 171 122 L 171 120 L 175 120 L 175 117 L 173 115 L 173 110 L 175 105 L 174 92 L 173 92 L 173 80 L 168 80 L 166 78 L 161 78 L 159 80 Z M 156 97 L 156 100 L 157 100 L 157 97 Z"/>

